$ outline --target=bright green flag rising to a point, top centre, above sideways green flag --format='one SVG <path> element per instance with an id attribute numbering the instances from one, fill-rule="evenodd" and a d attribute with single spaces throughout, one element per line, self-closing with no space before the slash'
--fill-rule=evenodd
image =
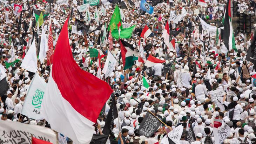
<path id="1" fill-rule="evenodd" d="M 120 28 L 122 29 L 123 25 L 122 25 L 122 21 L 121 21 L 121 14 L 120 14 L 119 7 L 116 5 L 113 15 L 111 17 L 111 20 L 109 22 L 108 31 L 111 30 L 111 33 L 112 33 L 114 29 L 118 29 L 117 28 L 118 23 L 121 23 Z"/>

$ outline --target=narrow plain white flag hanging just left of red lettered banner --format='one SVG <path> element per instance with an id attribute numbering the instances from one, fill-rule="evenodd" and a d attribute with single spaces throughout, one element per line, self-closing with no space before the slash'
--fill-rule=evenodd
<path id="1" fill-rule="evenodd" d="M 41 64 L 45 62 L 47 50 L 48 50 L 48 41 L 46 38 L 45 30 L 44 30 L 44 28 L 42 28 L 40 51 L 39 51 L 39 55 L 38 55 L 38 59 L 40 60 Z"/>

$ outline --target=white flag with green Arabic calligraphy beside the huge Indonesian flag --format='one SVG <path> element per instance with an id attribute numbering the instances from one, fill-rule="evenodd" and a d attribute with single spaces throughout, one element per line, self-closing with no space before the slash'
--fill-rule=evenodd
<path id="1" fill-rule="evenodd" d="M 46 82 L 35 73 L 31 84 L 28 88 L 28 93 L 23 103 L 21 114 L 28 116 L 33 119 L 43 119 L 40 114 L 41 104 L 43 101 L 43 96 L 46 90 Z"/>

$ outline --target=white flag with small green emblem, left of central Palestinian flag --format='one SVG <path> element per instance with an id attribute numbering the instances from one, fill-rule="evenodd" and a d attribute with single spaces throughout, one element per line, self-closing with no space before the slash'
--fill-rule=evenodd
<path id="1" fill-rule="evenodd" d="M 104 65 L 104 68 L 102 69 L 102 73 L 105 74 L 105 78 L 107 78 L 115 69 L 117 60 L 115 59 L 115 56 L 108 50 L 108 56 Z"/>

